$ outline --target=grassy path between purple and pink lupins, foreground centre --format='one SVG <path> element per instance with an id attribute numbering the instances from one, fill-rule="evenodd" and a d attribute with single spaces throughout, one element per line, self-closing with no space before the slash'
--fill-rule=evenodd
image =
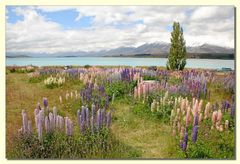
<path id="1" fill-rule="evenodd" d="M 141 118 L 126 104 L 116 103 L 112 131 L 122 142 L 139 150 L 143 158 L 174 158 L 175 140 L 170 126 Z"/>

